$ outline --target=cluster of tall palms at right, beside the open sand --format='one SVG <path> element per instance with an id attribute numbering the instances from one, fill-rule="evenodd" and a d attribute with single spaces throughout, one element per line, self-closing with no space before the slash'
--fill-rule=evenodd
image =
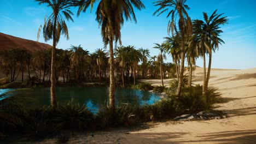
<path id="1" fill-rule="evenodd" d="M 161 0 L 154 2 L 159 7 L 155 13 L 161 15 L 168 12 L 167 17 L 171 17 L 168 22 L 168 34 L 165 38 L 165 49 L 171 53 L 173 62 L 176 64 L 176 73 L 178 78 L 177 96 L 181 95 L 182 82 L 184 75 L 185 57 L 189 65 L 189 82 L 191 86 L 191 75 L 193 65 L 198 57 L 203 57 L 203 92 L 206 95 L 208 82 L 210 79 L 212 52 L 215 52 L 219 44 L 224 43 L 220 39 L 220 25 L 228 22 L 226 16 L 217 14 L 217 10 L 208 17 L 203 13 L 203 20 L 191 20 L 187 10 L 190 8 L 185 3 L 187 0 Z M 178 20 L 176 17 L 179 17 Z M 208 71 L 206 74 L 206 55 L 209 55 Z"/>

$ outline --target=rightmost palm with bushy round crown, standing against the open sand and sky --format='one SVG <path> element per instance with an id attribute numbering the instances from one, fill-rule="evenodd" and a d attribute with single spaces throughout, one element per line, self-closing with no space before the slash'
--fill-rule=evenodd
<path id="1" fill-rule="evenodd" d="M 226 16 L 221 17 L 223 14 L 217 14 L 217 10 L 208 17 L 206 13 L 203 13 L 204 21 L 194 20 L 194 41 L 200 41 L 200 49 L 203 55 L 203 95 L 206 95 L 208 82 L 210 79 L 211 73 L 211 63 L 212 63 L 212 51 L 215 52 L 219 48 L 219 44 L 224 43 L 222 39 L 219 38 L 220 33 L 223 33 L 220 30 L 220 25 L 224 25 L 228 22 Z M 206 76 L 206 62 L 205 62 L 205 53 L 209 54 L 209 63 Z"/>

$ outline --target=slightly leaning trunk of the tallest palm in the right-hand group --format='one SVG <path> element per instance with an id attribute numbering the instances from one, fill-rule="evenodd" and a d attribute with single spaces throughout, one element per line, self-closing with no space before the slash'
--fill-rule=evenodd
<path id="1" fill-rule="evenodd" d="M 184 43 L 182 43 L 182 51 L 181 51 L 181 66 L 179 69 L 179 79 L 178 79 L 178 87 L 177 87 L 177 96 L 181 95 L 182 83 L 183 83 L 183 73 L 184 73 L 184 62 L 185 62 L 185 52 L 184 52 Z"/>

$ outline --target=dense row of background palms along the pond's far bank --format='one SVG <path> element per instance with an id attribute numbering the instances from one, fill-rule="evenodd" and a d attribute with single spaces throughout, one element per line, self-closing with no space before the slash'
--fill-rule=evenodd
<path id="1" fill-rule="evenodd" d="M 148 51 L 147 56 L 143 52 Z M 40 84 L 48 84 L 51 75 L 51 52 L 52 49 L 39 50 L 34 53 L 22 50 L 5 50 L 0 54 L 3 73 L 10 80 L 21 81 L 31 79 L 35 76 Z M 107 80 L 109 75 L 109 54 L 104 49 L 96 49 L 90 53 L 81 45 L 73 46 L 70 49 L 56 49 L 55 80 L 56 82 L 75 81 L 99 81 Z M 144 63 L 142 61 L 144 60 Z M 150 57 L 149 49 L 138 49 L 135 46 L 120 46 L 114 49 L 115 75 L 120 76 L 117 82 L 133 85 L 136 84 L 136 77 L 156 79 L 159 78 L 162 65 L 164 78 L 174 77 L 174 64 L 160 63 L 159 57 Z M 27 74 L 27 75 L 25 75 Z M 20 77 L 19 77 L 20 78 Z M 130 82 L 133 80 L 133 82 Z"/>

